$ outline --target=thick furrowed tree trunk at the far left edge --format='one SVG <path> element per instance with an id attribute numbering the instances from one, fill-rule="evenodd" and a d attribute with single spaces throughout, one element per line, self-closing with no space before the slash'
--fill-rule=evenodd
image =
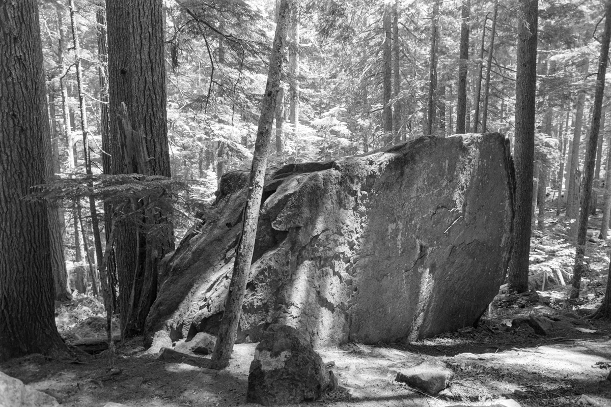
<path id="1" fill-rule="evenodd" d="M 48 203 L 51 153 L 38 6 L 0 3 L 0 361 L 67 348 L 54 318 Z"/>

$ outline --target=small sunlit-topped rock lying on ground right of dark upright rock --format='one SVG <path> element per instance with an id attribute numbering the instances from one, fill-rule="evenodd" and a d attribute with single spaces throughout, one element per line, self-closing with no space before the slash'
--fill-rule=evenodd
<path id="1" fill-rule="evenodd" d="M 454 372 L 445 367 L 442 361 L 425 361 L 421 364 L 397 373 L 396 381 L 436 395 L 448 387 Z"/>

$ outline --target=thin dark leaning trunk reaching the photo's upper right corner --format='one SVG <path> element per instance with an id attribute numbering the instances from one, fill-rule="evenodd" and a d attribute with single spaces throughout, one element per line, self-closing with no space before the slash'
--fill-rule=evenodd
<path id="1" fill-rule="evenodd" d="M 586 232 L 588 230 L 588 217 L 590 217 L 590 198 L 592 195 L 594 167 L 596 165 L 596 147 L 598 146 L 598 131 L 601 125 L 602 98 L 605 90 L 605 74 L 607 73 L 607 57 L 609 56 L 610 39 L 611 0 L 608 0 L 606 7 L 605 29 L 601 41 L 601 57 L 598 62 L 598 75 L 596 76 L 596 91 L 592 109 L 590 138 L 588 139 L 588 150 L 585 156 L 584 190 L 581 200 L 581 212 L 579 214 L 579 229 L 577 230 L 577 249 L 575 254 L 575 268 L 573 272 L 573 290 L 571 290 L 571 298 L 579 297 L 581 275 L 585 269 L 584 256 Z"/>

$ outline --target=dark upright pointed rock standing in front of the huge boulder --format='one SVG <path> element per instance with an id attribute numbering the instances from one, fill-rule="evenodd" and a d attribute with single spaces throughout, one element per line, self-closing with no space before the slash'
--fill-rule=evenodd
<path id="1" fill-rule="evenodd" d="M 295 328 L 274 324 L 255 350 L 246 401 L 265 406 L 309 402 L 335 386 L 333 373 L 305 337 Z"/>

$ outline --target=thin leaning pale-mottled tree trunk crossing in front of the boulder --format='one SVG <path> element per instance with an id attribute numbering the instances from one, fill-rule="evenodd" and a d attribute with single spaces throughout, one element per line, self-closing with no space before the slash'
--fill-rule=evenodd
<path id="1" fill-rule="evenodd" d="M 287 14 L 289 10 L 290 2 L 282 0 L 280 2 L 274 45 L 269 61 L 268 81 L 263 95 L 261 116 L 259 117 L 257 141 L 255 142 L 255 151 L 252 155 L 251 176 L 246 196 L 246 206 L 244 207 L 242 234 L 235 254 L 229 294 L 227 295 L 227 301 L 225 301 L 225 311 L 212 354 L 211 362 L 213 369 L 224 369 L 227 367 L 238 332 L 238 323 L 242 313 L 242 303 L 251 269 L 252 253 L 257 233 L 257 221 L 261 197 L 263 195 L 265 168 L 267 166 L 267 150 L 271 126 L 274 120 L 276 99 L 280 87 L 280 73 L 282 72 L 284 43 L 287 38 Z"/>

